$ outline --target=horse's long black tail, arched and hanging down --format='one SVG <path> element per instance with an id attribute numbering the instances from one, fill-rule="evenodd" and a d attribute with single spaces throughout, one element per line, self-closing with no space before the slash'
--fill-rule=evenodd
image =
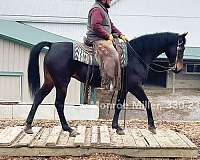
<path id="1" fill-rule="evenodd" d="M 40 73 L 39 73 L 39 54 L 43 47 L 51 47 L 51 42 L 40 42 L 32 49 L 28 63 L 28 85 L 31 97 L 35 96 L 40 88 Z"/>

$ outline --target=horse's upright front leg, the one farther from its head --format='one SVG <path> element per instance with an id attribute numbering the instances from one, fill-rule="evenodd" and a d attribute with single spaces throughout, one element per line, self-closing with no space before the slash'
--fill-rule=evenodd
<path id="1" fill-rule="evenodd" d="M 116 129 L 117 134 L 124 135 L 123 129 L 119 126 L 119 114 L 123 108 L 124 99 L 126 98 L 126 91 L 119 91 L 117 94 L 117 101 L 115 104 L 115 114 L 112 121 L 112 128 Z"/>

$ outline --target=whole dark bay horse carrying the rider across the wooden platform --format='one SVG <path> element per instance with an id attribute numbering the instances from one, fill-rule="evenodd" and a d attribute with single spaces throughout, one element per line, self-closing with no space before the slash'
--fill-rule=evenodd
<path id="1" fill-rule="evenodd" d="M 119 113 L 122 109 L 124 99 L 128 92 L 132 93 L 140 102 L 143 103 L 147 111 L 148 129 L 155 133 L 151 103 L 147 98 L 142 84 L 149 71 L 149 65 L 160 54 L 166 54 L 169 63 L 173 65 L 173 71 L 178 73 L 183 68 L 183 52 L 186 42 L 184 34 L 177 33 L 155 33 L 144 35 L 129 41 L 128 45 L 128 65 L 122 69 L 123 88 L 118 91 L 115 113 L 112 121 L 112 128 L 116 129 L 118 134 L 124 134 L 123 129 L 118 124 Z M 48 53 L 44 58 L 44 84 L 40 88 L 39 76 L 39 54 L 43 47 L 49 47 Z M 133 52 L 134 49 L 134 52 Z M 139 55 L 139 58 L 136 56 Z M 145 63 L 142 63 L 142 61 Z M 67 94 L 67 87 L 71 78 L 75 78 L 83 83 L 86 82 L 88 65 L 73 60 L 72 42 L 40 42 L 35 45 L 30 53 L 28 64 L 28 83 L 30 93 L 35 96 L 32 108 L 26 120 L 26 133 L 32 133 L 32 122 L 36 110 L 43 99 L 56 88 L 55 106 L 60 118 L 62 129 L 69 131 L 70 136 L 76 136 L 78 133 L 67 123 L 64 115 L 64 102 Z M 92 76 L 92 78 L 91 78 Z M 101 84 L 100 71 L 97 66 L 94 67 L 93 75 L 90 73 L 91 81 L 89 85 L 99 87 Z"/>

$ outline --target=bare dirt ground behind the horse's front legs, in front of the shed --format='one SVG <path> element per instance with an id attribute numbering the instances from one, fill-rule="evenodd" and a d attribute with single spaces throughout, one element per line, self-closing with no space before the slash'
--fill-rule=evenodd
<path id="1" fill-rule="evenodd" d="M 152 104 L 155 120 L 200 121 L 200 90 L 176 89 L 175 93 L 172 93 L 172 89 L 145 88 L 145 92 Z M 97 90 L 100 118 L 112 118 L 116 95 L 117 93 L 113 98 L 113 105 L 110 107 L 111 115 L 107 115 L 108 107 L 105 108 L 105 104 L 110 103 L 112 92 Z M 130 93 L 127 95 L 126 109 L 128 110 L 126 119 L 146 120 L 145 108 Z M 123 116 L 123 113 L 121 115 Z"/>

